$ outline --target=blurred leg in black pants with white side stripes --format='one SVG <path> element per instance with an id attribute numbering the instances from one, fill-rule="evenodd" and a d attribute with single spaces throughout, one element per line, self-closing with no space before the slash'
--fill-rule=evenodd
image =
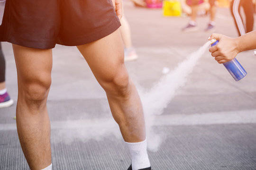
<path id="1" fill-rule="evenodd" d="M 241 16 L 241 7 L 245 14 L 245 20 Z M 252 0 L 232 0 L 230 10 L 234 18 L 239 36 L 253 30 L 254 25 L 254 5 Z M 246 27 L 245 27 L 246 26 Z"/>

